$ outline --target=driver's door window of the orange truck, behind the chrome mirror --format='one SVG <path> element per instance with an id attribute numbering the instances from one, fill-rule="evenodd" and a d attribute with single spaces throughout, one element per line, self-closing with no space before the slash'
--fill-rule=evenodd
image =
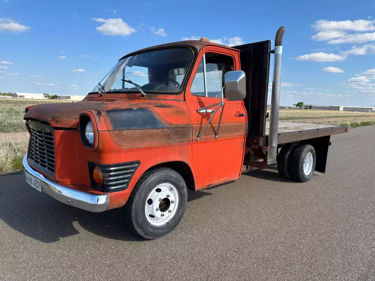
<path id="1" fill-rule="evenodd" d="M 196 70 L 190 92 L 195 96 L 221 98 L 224 75 L 232 70 L 233 57 L 213 52 L 205 53 Z"/>

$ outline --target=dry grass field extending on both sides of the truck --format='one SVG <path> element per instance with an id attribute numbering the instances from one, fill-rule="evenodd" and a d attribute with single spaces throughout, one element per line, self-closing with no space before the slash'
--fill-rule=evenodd
<path id="1" fill-rule="evenodd" d="M 29 105 L 55 102 L 68 101 L 0 99 L 0 173 L 22 168 L 28 142 L 23 120 L 25 108 Z M 279 120 L 358 127 L 375 124 L 375 113 L 280 109 Z"/>

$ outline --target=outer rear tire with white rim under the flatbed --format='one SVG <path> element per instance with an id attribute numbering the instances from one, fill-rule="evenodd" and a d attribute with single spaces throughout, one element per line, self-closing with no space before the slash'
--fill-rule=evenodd
<path id="1" fill-rule="evenodd" d="M 309 144 L 298 146 L 290 159 L 291 178 L 299 182 L 308 181 L 314 173 L 316 162 L 314 147 Z"/>

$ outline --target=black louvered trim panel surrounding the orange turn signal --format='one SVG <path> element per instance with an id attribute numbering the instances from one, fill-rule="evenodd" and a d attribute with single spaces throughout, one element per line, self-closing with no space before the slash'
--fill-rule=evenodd
<path id="1" fill-rule="evenodd" d="M 125 190 L 140 163 L 139 161 L 118 164 L 96 164 L 89 162 L 91 185 L 105 192 Z M 95 166 L 100 167 L 103 172 L 104 183 L 102 185 L 96 184 L 92 178 L 92 171 Z"/>

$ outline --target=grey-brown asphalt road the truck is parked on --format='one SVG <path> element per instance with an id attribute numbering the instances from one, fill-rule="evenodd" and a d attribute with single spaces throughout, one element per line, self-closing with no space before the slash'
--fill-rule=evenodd
<path id="1" fill-rule="evenodd" d="M 121 209 L 90 213 L 0 177 L 0 280 L 375 280 L 375 126 L 332 137 L 306 183 L 257 170 L 189 192 L 169 235 L 135 238 Z"/>

